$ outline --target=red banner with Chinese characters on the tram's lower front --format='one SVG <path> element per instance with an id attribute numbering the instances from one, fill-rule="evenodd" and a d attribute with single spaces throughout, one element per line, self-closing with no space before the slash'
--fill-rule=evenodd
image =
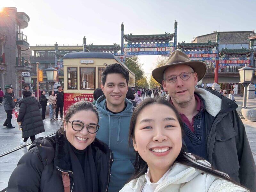
<path id="1" fill-rule="evenodd" d="M 78 101 L 94 101 L 92 93 L 65 93 L 64 92 L 64 115 L 67 113 L 67 110 L 70 105 Z"/>

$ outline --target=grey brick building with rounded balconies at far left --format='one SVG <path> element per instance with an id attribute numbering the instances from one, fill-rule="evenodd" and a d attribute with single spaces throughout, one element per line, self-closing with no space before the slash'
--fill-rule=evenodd
<path id="1" fill-rule="evenodd" d="M 13 87 L 15 98 L 22 96 L 22 72 L 32 70 L 22 52 L 29 50 L 28 37 L 21 31 L 28 27 L 29 17 L 15 7 L 0 12 L 0 86 Z"/>

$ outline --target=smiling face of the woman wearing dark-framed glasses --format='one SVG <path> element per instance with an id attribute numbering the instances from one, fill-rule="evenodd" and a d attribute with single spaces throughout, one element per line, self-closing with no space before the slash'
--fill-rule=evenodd
<path id="1" fill-rule="evenodd" d="M 84 118 L 86 117 L 86 118 Z M 98 118 L 94 112 L 91 110 L 85 111 L 78 111 L 71 118 L 69 121 L 72 123 L 72 121 L 78 120 L 83 122 L 84 124 L 98 124 Z M 64 123 L 64 130 L 66 130 L 66 137 L 68 142 L 73 145 L 78 150 L 83 150 L 87 148 L 95 139 L 96 133 L 89 133 L 86 129 L 86 125 L 84 125 L 84 128 L 81 131 L 75 131 L 72 128 L 71 123 Z"/>

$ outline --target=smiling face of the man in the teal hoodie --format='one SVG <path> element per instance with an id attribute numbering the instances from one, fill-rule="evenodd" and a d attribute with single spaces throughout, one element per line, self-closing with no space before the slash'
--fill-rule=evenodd
<path id="1" fill-rule="evenodd" d="M 120 106 L 124 106 L 128 86 L 122 74 L 108 74 L 105 84 L 101 85 L 101 89 L 106 96 L 108 108 L 120 108 Z"/>

